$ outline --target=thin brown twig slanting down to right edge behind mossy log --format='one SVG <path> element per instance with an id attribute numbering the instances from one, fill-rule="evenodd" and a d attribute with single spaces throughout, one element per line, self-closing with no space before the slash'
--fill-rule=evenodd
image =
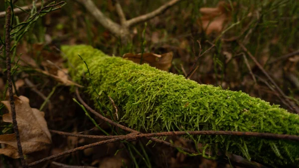
<path id="1" fill-rule="evenodd" d="M 299 114 L 299 107 L 297 107 L 295 105 L 294 102 L 291 102 L 288 97 L 285 95 L 285 93 L 280 89 L 280 87 L 278 87 L 278 85 L 276 84 L 276 82 L 272 79 L 272 77 L 266 72 L 266 70 L 263 68 L 263 66 L 257 61 L 257 59 L 247 50 L 247 48 L 240 42 L 238 41 L 238 44 L 240 45 L 240 47 L 251 57 L 251 59 L 255 62 L 255 64 L 259 67 L 259 69 L 264 73 L 264 75 L 267 76 L 267 78 L 271 81 L 271 83 L 276 87 L 276 89 L 278 90 L 278 92 L 284 97 L 284 99 L 286 100 L 286 102 L 288 102 L 289 106 L 292 107 L 291 110 L 294 110 L 294 112 Z"/>

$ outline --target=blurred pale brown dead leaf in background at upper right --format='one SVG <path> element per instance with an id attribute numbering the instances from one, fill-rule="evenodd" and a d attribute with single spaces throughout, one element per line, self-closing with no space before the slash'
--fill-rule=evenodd
<path id="1" fill-rule="evenodd" d="M 236 3 L 233 3 L 233 6 L 236 6 Z M 231 19 L 232 6 L 225 1 L 219 1 L 217 7 L 202 7 L 199 11 L 202 17 L 198 19 L 198 24 L 206 34 L 213 31 L 218 33 Z"/>

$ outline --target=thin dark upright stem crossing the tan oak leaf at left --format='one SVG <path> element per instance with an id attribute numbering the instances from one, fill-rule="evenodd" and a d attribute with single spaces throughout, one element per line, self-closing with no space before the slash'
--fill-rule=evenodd
<path id="1" fill-rule="evenodd" d="M 11 108 L 11 118 L 13 123 L 13 131 L 15 133 L 17 151 L 21 160 L 22 168 L 27 168 L 26 161 L 24 159 L 23 150 L 21 146 L 20 133 L 17 126 L 15 104 L 13 99 L 12 91 L 12 76 L 11 76 L 11 63 L 10 63 L 10 20 L 11 20 L 11 7 L 8 6 L 6 9 L 6 22 L 5 22 L 5 56 L 6 56 L 6 68 L 7 68 L 7 81 L 8 81 L 8 92 L 9 92 L 9 103 Z"/>

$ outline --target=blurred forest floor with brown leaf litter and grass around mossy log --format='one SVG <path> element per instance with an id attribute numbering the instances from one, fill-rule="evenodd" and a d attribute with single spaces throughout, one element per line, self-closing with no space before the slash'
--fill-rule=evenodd
<path id="1" fill-rule="evenodd" d="M 120 22 L 113 1 L 94 0 L 106 16 Z M 122 0 L 121 6 L 129 19 L 155 10 L 167 1 L 155 0 L 153 4 L 151 0 Z M 36 4 L 39 2 L 37 0 Z M 61 9 L 46 13 L 30 25 L 11 54 L 13 92 L 16 96 L 28 98 L 31 108 L 44 112 L 49 130 L 103 135 L 73 101 L 76 95 L 65 82 L 71 79 L 67 76 L 67 61 L 59 50 L 61 45 L 88 44 L 108 55 L 120 57 L 128 53 L 162 55 L 172 52 L 172 60 L 166 64 L 157 62 L 155 66 L 199 84 L 243 91 L 278 104 L 291 113 L 298 110 L 293 108 L 299 107 L 298 0 L 182 0 L 146 24 L 133 26 L 130 29 L 132 43 L 128 44 L 104 28 L 83 5 L 72 0 L 66 2 Z M 32 0 L 19 0 L 16 4 L 25 6 L 31 3 Z M 4 4 L 4 0 L 0 0 L 0 4 Z M 4 5 L 0 5 L 0 11 L 5 11 Z M 28 14 L 15 15 L 16 19 L 25 20 Z M 2 39 L 4 17 L 0 16 Z M 15 40 L 12 38 L 12 46 Z M 0 101 L 8 100 L 9 96 L 4 48 L 0 49 Z M 88 95 L 83 98 L 89 105 L 93 104 Z M 5 113 L 7 110 L 1 105 L 0 115 Z M 101 127 L 111 132 L 107 124 Z M 0 135 L 9 133 L 13 133 L 12 124 L 1 119 Z M 33 154 L 33 157 L 28 156 L 28 163 L 98 141 L 54 133 L 51 139 L 51 148 Z M 170 139 L 176 145 L 190 146 L 182 138 Z M 140 148 L 144 143 L 138 141 L 132 145 Z M 150 166 L 138 154 L 132 156 L 122 143 L 72 153 L 56 162 L 98 168 L 133 168 L 137 165 L 153 168 L 231 167 L 227 163 L 187 156 L 159 144 L 147 147 L 146 153 Z M 14 159 L 3 155 L 0 159 L 0 168 L 20 167 Z M 43 168 L 48 167 L 64 166 L 49 162 L 43 165 Z"/>

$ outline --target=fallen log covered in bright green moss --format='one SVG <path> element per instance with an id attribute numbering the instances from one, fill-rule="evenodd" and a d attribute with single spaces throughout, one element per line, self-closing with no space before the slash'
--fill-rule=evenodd
<path id="1" fill-rule="evenodd" d="M 82 84 L 82 75 L 87 72 L 79 54 L 88 64 L 99 93 L 94 94 L 88 85 L 86 90 L 92 99 L 108 103 L 110 96 L 120 108 L 120 121 L 137 131 L 229 130 L 299 135 L 299 115 L 246 93 L 198 84 L 147 64 L 108 56 L 91 46 L 63 46 L 62 51 L 73 66 L 73 79 Z M 299 167 L 298 142 L 235 136 L 194 138 L 205 148 L 212 147 L 222 154 L 229 152 L 274 167 Z"/>

